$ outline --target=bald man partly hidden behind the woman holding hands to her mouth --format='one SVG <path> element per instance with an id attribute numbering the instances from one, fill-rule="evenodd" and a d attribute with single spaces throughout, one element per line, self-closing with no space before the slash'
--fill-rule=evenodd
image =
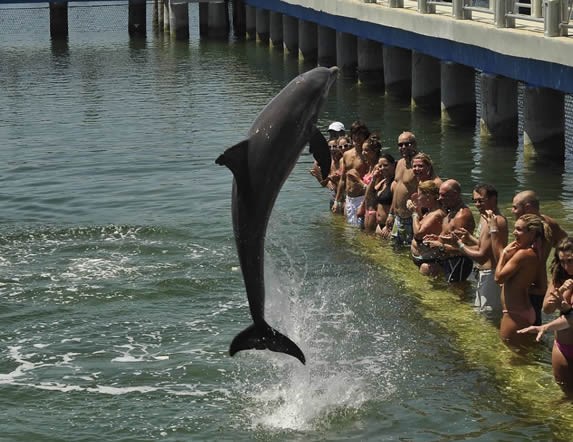
<path id="1" fill-rule="evenodd" d="M 567 237 L 567 233 L 559 226 L 557 221 L 553 218 L 543 215 L 539 211 L 539 199 L 532 190 L 524 190 L 519 192 L 513 197 L 513 204 L 511 212 L 518 219 L 521 215 L 530 213 L 533 215 L 541 216 L 543 221 L 547 223 L 551 230 L 551 239 L 547 250 L 543 250 L 539 267 L 537 269 L 537 278 L 529 288 L 529 296 L 531 297 L 531 304 L 535 309 L 535 323 L 533 325 L 541 325 L 541 308 L 543 306 L 543 297 L 547 291 L 547 258 L 551 253 L 551 248 L 559 244 L 563 238 Z"/>

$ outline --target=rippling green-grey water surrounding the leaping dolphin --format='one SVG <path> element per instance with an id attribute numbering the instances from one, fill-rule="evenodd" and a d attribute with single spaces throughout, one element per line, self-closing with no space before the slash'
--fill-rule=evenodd
<path id="1" fill-rule="evenodd" d="M 249 315 L 231 176 L 214 159 L 311 66 L 254 42 L 199 41 L 190 9 L 188 44 L 151 26 L 130 42 L 125 5 L 72 8 L 67 48 L 50 44 L 45 9 L 0 26 L 0 440 L 548 440 L 573 429 L 548 351 L 525 366 L 496 359 L 495 330 L 459 293 L 388 249 L 365 253 L 373 242 L 329 215 L 308 156 L 267 241 L 267 316 L 308 364 L 227 355 Z M 492 182 L 508 209 L 536 189 L 571 231 L 569 129 L 559 170 L 340 80 L 319 124 L 356 118 L 387 146 L 412 129 L 468 197 Z"/>

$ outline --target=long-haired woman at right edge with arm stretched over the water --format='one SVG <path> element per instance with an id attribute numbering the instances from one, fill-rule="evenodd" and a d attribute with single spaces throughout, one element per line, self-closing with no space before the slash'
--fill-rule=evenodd
<path id="1" fill-rule="evenodd" d="M 531 326 L 519 333 L 537 333 L 537 340 L 546 331 L 555 331 L 551 365 L 555 381 L 567 395 L 573 395 L 573 329 L 566 318 L 573 318 L 573 238 L 565 238 L 555 248 L 551 263 L 551 281 L 543 300 L 543 312 L 560 312 L 559 319 L 541 326 Z M 565 328 L 560 328 L 559 325 Z"/>

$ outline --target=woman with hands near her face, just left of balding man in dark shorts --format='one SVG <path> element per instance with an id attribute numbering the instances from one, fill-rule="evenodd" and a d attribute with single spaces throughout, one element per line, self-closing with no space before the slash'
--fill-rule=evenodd
<path id="1" fill-rule="evenodd" d="M 408 200 L 406 203 L 412 212 L 412 260 L 420 268 L 420 273 L 427 276 L 438 275 L 441 271 L 439 251 L 424 244 L 424 236 L 439 235 L 442 231 L 446 212 L 438 201 L 439 195 L 440 188 L 434 181 L 423 181 L 418 185 L 418 193 L 413 196 L 416 202 Z"/>

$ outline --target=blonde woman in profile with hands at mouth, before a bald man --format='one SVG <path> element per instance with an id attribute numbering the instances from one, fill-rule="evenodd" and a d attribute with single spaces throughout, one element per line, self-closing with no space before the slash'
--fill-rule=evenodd
<path id="1" fill-rule="evenodd" d="M 515 241 L 501 252 L 495 269 L 495 281 L 502 285 L 500 337 L 509 346 L 520 347 L 531 342 L 517 331 L 535 322 L 528 290 L 535 281 L 537 266 L 548 247 L 551 232 L 540 216 L 526 214 L 515 222 L 513 235 Z"/>

